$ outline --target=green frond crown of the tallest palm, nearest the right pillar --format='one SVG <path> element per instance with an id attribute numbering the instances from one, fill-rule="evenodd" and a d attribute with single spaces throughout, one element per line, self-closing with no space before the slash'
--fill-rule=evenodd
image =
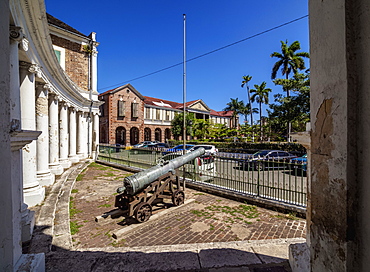
<path id="1" fill-rule="evenodd" d="M 282 75 L 286 76 L 286 79 L 289 78 L 289 74 L 293 72 L 293 74 L 297 73 L 298 70 L 306 69 L 304 66 L 304 59 L 309 58 L 310 54 L 307 52 L 298 52 L 297 50 L 301 49 L 301 44 L 299 41 L 293 42 L 291 45 L 288 46 L 288 41 L 281 42 L 281 53 L 274 52 L 271 54 L 271 57 L 278 58 L 279 60 L 274 64 L 271 73 L 271 79 L 275 79 L 277 72 L 281 68 Z M 289 90 L 286 90 L 287 97 L 289 97 Z"/>

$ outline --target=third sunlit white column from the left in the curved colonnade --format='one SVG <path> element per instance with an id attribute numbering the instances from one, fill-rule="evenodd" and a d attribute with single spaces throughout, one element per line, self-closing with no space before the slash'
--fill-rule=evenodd
<path id="1" fill-rule="evenodd" d="M 55 175 L 63 173 L 63 167 L 59 163 L 59 117 L 58 97 L 49 95 L 49 168 Z"/>

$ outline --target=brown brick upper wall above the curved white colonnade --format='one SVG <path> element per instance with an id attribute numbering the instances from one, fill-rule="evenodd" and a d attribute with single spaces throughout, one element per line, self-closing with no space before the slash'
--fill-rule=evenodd
<path id="1" fill-rule="evenodd" d="M 88 91 L 89 57 L 83 51 L 82 44 L 61 37 L 50 35 L 53 45 L 65 49 L 65 71 L 81 89 Z"/>

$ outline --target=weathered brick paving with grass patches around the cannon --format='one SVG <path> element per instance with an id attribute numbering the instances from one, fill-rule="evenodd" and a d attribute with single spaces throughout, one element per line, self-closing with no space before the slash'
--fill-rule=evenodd
<path id="1" fill-rule="evenodd" d="M 304 219 L 191 189 L 186 189 L 186 198 L 194 201 L 173 212 L 168 203 L 160 219 L 140 225 L 123 217 L 95 222 L 95 216 L 114 208 L 116 189 L 128 174 L 93 163 L 79 176 L 71 194 L 71 221 L 78 229 L 72 235 L 75 248 L 305 238 Z M 155 207 L 153 213 L 164 209 Z M 124 228 L 133 229 L 112 237 Z"/>

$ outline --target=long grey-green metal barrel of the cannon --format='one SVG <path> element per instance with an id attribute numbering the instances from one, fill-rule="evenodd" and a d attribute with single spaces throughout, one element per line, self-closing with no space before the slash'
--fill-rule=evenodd
<path id="1" fill-rule="evenodd" d="M 123 193 L 126 191 L 128 195 L 134 195 L 140 190 L 144 189 L 150 183 L 158 179 L 160 176 L 167 174 L 168 172 L 175 171 L 176 168 L 183 166 L 185 163 L 194 160 L 196 157 L 199 157 L 205 153 L 204 148 L 196 149 L 192 152 L 189 152 L 185 155 L 177 157 L 168 161 L 164 165 L 156 165 L 135 175 L 124 178 L 123 187 L 117 189 L 118 193 Z"/>

